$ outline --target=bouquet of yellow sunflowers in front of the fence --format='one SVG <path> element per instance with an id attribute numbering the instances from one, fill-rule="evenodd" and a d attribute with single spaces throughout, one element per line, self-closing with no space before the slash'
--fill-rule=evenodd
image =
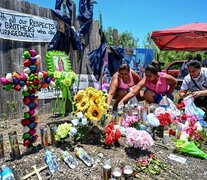
<path id="1" fill-rule="evenodd" d="M 106 98 L 106 92 L 88 87 L 85 90 L 78 91 L 73 100 L 77 112 L 82 112 L 91 121 L 99 121 L 102 115 L 107 113 Z"/>

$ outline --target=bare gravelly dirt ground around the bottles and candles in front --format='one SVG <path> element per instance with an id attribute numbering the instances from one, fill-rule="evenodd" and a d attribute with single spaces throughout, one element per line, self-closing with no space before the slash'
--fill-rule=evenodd
<path id="1" fill-rule="evenodd" d="M 40 115 L 40 123 L 62 123 L 68 121 L 69 118 L 52 118 L 52 115 Z M 22 126 L 20 123 L 21 119 L 13 119 L 8 123 L 8 127 L 4 128 L 3 123 L 1 123 L 1 134 L 4 135 L 4 150 L 5 158 L 1 159 L 0 164 L 6 164 L 13 169 L 16 179 L 21 179 L 28 173 L 34 171 L 33 167 L 36 165 L 37 168 L 45 166 L 45 151 L 40 145 L 40 138 L 38 139 L 35 147 L 29 152 L 22 145 Z M 16 130 L 18 134 L 18 141 L 20 145 L 21 156 L 18 159 L 12 159 L 10 157 L 11 148 L 8 140 L 8 133 L 10 131 Z M 50 137 L 50 136 L 49 136 Z M 50 141 L 50 138 L 49 138 Z M 112 167 L 120 167 L 123 164 L 130 164 L 134 166 L 137 161 L 140 161 L 149 153 L 155 153 L 159 160 L 166 163 L 167 169 L 162 170 L 160 175 L 149 176 L 145 173 L 139 173 L 137 179 L 197 179 L 203 180 L 207 179 L 207 160 L 202 160 L 198 158 L 193 158 L 190 156 L 184 156 L 179 154 L 179 156 L 190 160 L 190 164 L 181 164 L 176 161 L 170 160 L 168 156 L 170 154 L 175 154 L 175 146 L 173 141 L 166 146 L 161 146 L 161 139 L 157 140 L 155 145 L 149 151 L 141 151 L 134 148 L 127 147 L 125 143 L 125 137 L 121 137 L 119 140 L 119 146 L 114 146 L 111 148 L 106 148 L 103 144 L 94 145 L 88 143 L 78 143 L 71 144 L 69 141 L 64 143 L 59 143 L 56 146 L 49 146 L 49 149 L 54 151 L 57 158 L 57 162 L 60 167 L 60 171 L 55 175 L 51 175 L 48 168 L 40 172 L 41 178 L 43 180 L 99 180 L 103 179 L 102 176 L 102 166 L 103 163 L 110 159 Z M 83 147 L 86 152 L 88 152 L 94 160 L 92 167 L 87 167 L 81 160 L 78 159 L 79 165 L 75 170 L 70 169 L 62 160 L 61 160 L 61 149 L 68 150 L 71 155 L 75 157 L 74 147 L 80 146 Z M 38 179 L 36 175 L 28 179 Z"/>

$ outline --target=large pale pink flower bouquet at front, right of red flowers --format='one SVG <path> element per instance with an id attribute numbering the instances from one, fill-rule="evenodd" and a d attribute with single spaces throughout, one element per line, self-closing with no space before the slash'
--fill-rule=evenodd
<path id="1" fill-rule="evenodd" d="M 154 140 L 147 131 L 130 127 L 126 129 L 126 132 L 127 144 L 130 147 L 145 150 L 151 148 L 154 144 Z"/>

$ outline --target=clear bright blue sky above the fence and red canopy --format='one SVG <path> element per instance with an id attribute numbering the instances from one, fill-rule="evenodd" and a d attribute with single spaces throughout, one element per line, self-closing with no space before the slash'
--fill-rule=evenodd
<path id="1" fill-rule="evenodd" d="M 27 0 L 54 9 L 55 0 Z M 76 3 L 78 12 L 79 0 Z M 111 26 L 120 33 L 139 38 L 139 47 L 148 32 L 193 22 L 207 22 L 207 0 L 97 0 L 93 19 L 102 14 L 103 28 Z"/>

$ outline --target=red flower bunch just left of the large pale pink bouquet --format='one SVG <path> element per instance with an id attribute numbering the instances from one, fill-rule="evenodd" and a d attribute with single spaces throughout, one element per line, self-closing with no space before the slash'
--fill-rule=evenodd
<path id="1" fill-rule="evenodd" d="M 118 139 L 121 137 L 121 132 L 118 129 L 114 128 L 113 123 L 109 123 L 105 129 L 106 132 L 106 144 L 112 145 L 113 143 L 116 143 Z"/>

